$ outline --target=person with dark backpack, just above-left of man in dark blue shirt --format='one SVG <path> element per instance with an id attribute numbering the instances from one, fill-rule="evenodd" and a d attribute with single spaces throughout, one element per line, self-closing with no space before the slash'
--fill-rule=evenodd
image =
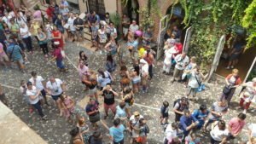
<path id="1" fill-rule="evenodd" d="M 184 110 L 189 109 L 189 100 L 186 97 L 174 101 L 173 112 L 175 112 L 175 122 L 179 122 L 184 114 Z"/>

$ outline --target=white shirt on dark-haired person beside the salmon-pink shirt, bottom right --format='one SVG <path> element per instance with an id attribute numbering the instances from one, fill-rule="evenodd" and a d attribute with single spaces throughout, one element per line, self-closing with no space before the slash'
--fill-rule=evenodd
<path id="1" fill-rule="evenodd" d="M 222 141 L 225 136 L 229 135 L 229 130 L 219 130 L 218 125 L 214 126 L 213 129 L 210 132 L 210 135 L 212 136 L 212 139 L 215 141 Z"/>

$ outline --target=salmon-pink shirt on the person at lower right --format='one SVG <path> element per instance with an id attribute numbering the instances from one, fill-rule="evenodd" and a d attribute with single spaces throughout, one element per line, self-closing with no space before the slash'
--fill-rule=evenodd
<path id="1" fill-rule="evenodd" d="M 232 118 L 229 122 L 229 126 L 231 128 L 231 134 L 238 134 L 245 125 L 245 121 L 240 121 L 239 118 Z"/>

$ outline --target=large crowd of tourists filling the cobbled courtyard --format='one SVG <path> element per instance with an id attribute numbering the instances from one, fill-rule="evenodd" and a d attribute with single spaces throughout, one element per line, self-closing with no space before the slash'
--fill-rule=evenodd
<path id="1" fill-rule="evenodd" d="M 132 106 L 138 93 L 148 93 L 149 81 L 154 78 L 155 52 L 152 49 L 153 32 L 150 27 L 142 29 L 136 20 L 124 14 L 122 17 L 122 32 L 115 28 L 108 13 L 102 18 L 95 11 L 85 14 L 81 18 L 79 14 L 69 11 L 66 0 L 61 3 L 52 3 L 46 10 L 46 14 L 40 9 L 32 12 L 21 5 L 20 9 L 4 8 L 0 19 L 0 62 L 3 67 L 12 68 L 12 63 L 17 63 L 21 72 L 27 72 L 29 64 L 28 55 L 34 55 L 35 45 L 42 49 L 42 56 L 47 62 L 55 60 L 60 72 L 68 72 L 65 60 L 65 43 L 81 42 L 84 40 L 84 28 L 89 26 L 91 32 L 91 48 L 100 50 L 106 55 L 105 69 L 93 70 L 90 61 L 84 51 L 79 51 L 79 81 L 84 85 L 89 103 L 81 111 L 66 94 L 66 84 L 60 78 L 49 77 L 45 81 L 36 71 L 31 72 L 32 78 L 20 82 L 20 94 L 26 101 L 28 111 L 38 111 L 43 120 L 48 120 L 44 114 L 43 105 L 50 105 L 47 95 L 55 101 L 55 107 L 64 116 L 68 123 L 74 124 L 75 128 L 70 131 L 71 143 L 73 144 L 102 144 L 102 133 L 98 130 L 98 123 L 103 119 L 113 119 L 113 126 L 109 130 L 109 139 L 114 144 L 125 143 L 124 131 L 131 133 L 131 143 L 146 144 L 149 127 L 147 119 L 143 118 L 143 112 L 133 112 Z M 119 37 L 122 33 L 122 37 Z M 125 44 L 120 44 L 123 39 Z M 34 42 L 33 39 L 35 39 Z M 188 92 L 173 103 L 172 111 L 175 118 L 169 118 L 168 101 L 163 101 L 160 107 L 160 124 L 164 128 L 165 144 L 202 143 L 198 138 L 198 131 L 204 135 L 211 135 L 212 144 L 224 144 L 232 141 L 241 134 L 245 127 L 247 109 L 256 95 L 256 78 L 251 82 L 241 84 L 241 78 L 237 69 L 225 78 L 225 86 L 222 95 L 219 95 L 211 109 L 202 103 L 193 112 L 190 103 L 196 101 L 196 94 L 205 89 L 203 84 L 206 76 L 201 72 L 197 64 L 197 58 L 183 52 L 183 44 L 180 42 L 181 31 L 173 26 L 171 32 L 165 36 L 165 59 L 162 73 L 170 75 L 171 82 L 183 84 Z M 129 53 L 130 55 L 126 55 Z M 49 58 L 50 54 L 52 57 Z M 191 57 L 190 57 L 191 56 Z M 190 57 L 190 59 L 189 59 Z M 128 60 L 130 58 L 130 60 Z M 131 61 L 132 69 L 128 68 L 127 61 Z M 119 71 L 117 68 L 119 67 Z M 234 68 L 234 67 L 233 67 Z M 116 78 L 116 75 L 118 76 Z M 175 82 L 177 81 L 177 82 Z M 119 83 L 116 83 L 119 82 Z M 113 89 L 119 86 L 119 89 Z M 231 118 L 226 124 L 223 116 L 229 112 L 230 101 L 238 86 L 244 89 L 240 95 L 240 107 L 243 112 L 236 118 Z M 0 95 L 4 95 L 0 88 Z M 189 95 L 192 95 L 189 96 Z M 99 102 L 99 96 L 103 97 L 103 104 Z M 4 104 L 8 105 L 5 96 Z M 119 97 L 121 101 L 115 101 Z M 103 107 L 104 112 L 100 112 Z M 109 113 L 108 111 L 112 112 Z M 88 118 L 84 118 L 86 113 Z M 113 116 L 113 117 L 111 117 Z M 89 129 L 86 122 L 89 119 L 93 130 Z M 172 123 L 169 123 L 169 122 Z M 209 127 L 209 125 L 211 126 Z M 92 135 L 90 135 L 92 133 Z M 248 128 L 249 140 L 247 144 L 256 143 L 256 124 Z"/>

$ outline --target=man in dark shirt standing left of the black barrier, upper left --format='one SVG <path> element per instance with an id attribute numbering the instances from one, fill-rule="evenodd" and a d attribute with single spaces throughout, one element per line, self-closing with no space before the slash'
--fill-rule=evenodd
<path id="1" fill-rule="evenodd" d="M 76 14 L 76 19 L 73 21 L 73 25 L 77 30 L 76 35 L 78 41 L 82 41 L 84 37 L 84 20 L 79 17 L 79 14 Z"/>

